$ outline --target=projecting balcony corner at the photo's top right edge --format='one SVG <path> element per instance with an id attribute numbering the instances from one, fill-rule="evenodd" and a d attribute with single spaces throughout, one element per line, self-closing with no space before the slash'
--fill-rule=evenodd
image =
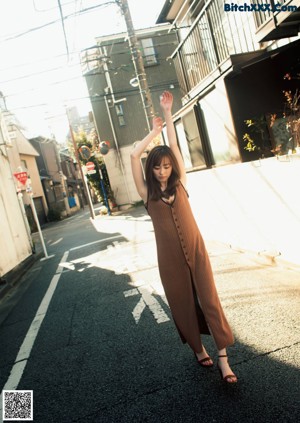
<path id="1" fill-rule="evenodd" d="M 300 0 L 254 0 L 257 41 L 297 36 L 300 31 Z"/>

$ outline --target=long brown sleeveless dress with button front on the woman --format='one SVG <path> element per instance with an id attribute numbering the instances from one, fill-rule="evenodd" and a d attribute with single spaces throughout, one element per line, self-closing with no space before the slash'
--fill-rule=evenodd
<path id="1" fill-rule="evenodd" d="M 211 334 L 219 350 L 233 344 L 185 188 L 179 183 L 172 204 L 148 200 L 146 208 L 153 222 L 161 281 L 182 341 L 196 352 L 202 351 L 201 334 Z"/>

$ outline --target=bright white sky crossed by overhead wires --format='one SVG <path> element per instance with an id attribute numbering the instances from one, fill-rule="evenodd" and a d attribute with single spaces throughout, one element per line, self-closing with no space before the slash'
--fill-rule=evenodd
<path id="1" fill-rule="evenodd" d="M 165 0 L 128 0 L 135 29 L 155 25 Z M 92 109 L 80 51 L 126 31 L 113 0 L 10 0 L 0 3 L 0 91 L 27 137 L 68 132 L 66 108 Z M 82 13 L 83 10 L 86 10 Z M 79 13 L 81 12 L 81 13 Z M 61 21 L 64 16 L 64 28 Z"/>

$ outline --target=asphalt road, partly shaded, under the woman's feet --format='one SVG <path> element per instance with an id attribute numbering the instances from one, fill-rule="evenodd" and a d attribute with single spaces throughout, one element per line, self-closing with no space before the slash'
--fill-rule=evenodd
<path id="1" fill-rule="evenodd" d="M 236 338 L 226 386 L 179 339 L 143 208 L 94 223 L 83 211 L 43 234 L 54 257 L 0 301 L 0 386 L 33 390 L 34 422 L 298 421 L 297 269 L 207 242 Z"/>

